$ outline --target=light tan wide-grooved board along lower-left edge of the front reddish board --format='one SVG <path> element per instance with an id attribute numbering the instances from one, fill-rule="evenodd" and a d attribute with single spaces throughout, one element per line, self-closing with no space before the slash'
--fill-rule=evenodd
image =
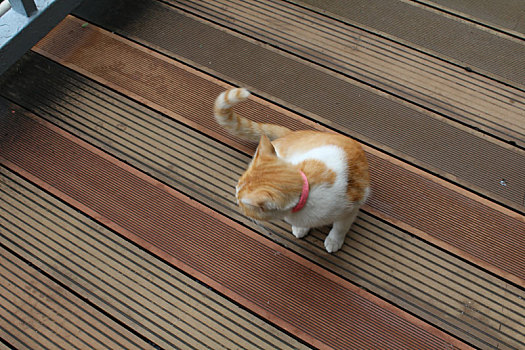
<path id="1" fill-rule="evenodd" d="M 306 348 L 4 168 L 0 173 L 2 244 L 157 346 Z M 36 284 L 27 282 L 31 290 Z M 111 324 L 104 316 L 95 317 Z M 75 324 L 72 315 L 63 320 L 66 329 L 68 322 Z"/>

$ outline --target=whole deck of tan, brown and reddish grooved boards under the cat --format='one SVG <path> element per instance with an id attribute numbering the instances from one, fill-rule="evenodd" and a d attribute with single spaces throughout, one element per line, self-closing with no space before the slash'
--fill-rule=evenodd
<path id="1" fill-rule="evenodd" d="M 0 76 L 0 349 L 525 349 L 524 11 L 84 1 Z M 238 212 L 231 86 L 363 144 L 341 251 Z"/>

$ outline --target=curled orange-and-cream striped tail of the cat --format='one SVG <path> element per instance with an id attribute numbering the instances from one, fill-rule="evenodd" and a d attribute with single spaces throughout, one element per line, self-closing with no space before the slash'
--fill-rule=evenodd
<path id="1" fill-rule="evenodd" d="M 275 124 L 257 123 L 241 117 L 233 111 L 233 106 L 245 101 L 250 92 L 244 88 L 235 88 L 222 92 L 215 100 L 215 119 L 228 132 L 250 141 L 259 141 L 261 135 L 270 140 L 277 139 L 288 133 L 290 129 Z"/>

